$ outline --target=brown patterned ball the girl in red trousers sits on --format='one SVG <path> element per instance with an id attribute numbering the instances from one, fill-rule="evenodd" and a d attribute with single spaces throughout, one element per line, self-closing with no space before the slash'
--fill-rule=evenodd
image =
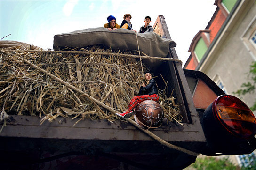
<path id="1" fill-rule="evenodd" d="M 145 100 L 136 106 L 134 119 L 143 129 L 158 128 L 162 125 L 164 112 L 159 103 L 153 100 Z"/>

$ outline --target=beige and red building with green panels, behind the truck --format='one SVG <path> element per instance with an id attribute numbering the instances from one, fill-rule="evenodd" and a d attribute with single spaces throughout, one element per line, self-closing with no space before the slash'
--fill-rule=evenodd
<path id="1" fill-rule="evenodd" d="M 207 74 L 226 94 L 234 95 L 242 83 L 250 81 L 250 65 L 256 61 L 256 0 L 216 0 L 214 5 L 207 27 L 192 40 L 184 69 Z M 240 99 L 251 107 L 256 94 Z M 251 155 L 255 157 L 255 151 Z M 235 158 L 241 166 L 250 162 L 246 157 Z"/>

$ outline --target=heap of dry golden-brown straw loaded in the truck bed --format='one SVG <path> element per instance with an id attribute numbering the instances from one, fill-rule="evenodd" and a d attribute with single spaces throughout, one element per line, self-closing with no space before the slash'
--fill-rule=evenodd
<path id="1" fill-rule="evenodd" d="M 99 45 L 79 50 L 89 53 L 2 50 L 1 115 L 38 115 L 41 122 L 57 117 L 118 119 L 114 111 L 127 110 L 131 98 L 138 95 L 143 81 L 141 63 Z M 169 121 L 181 122 L 174 97 L 167 98 L 160 91 L 160 103 Z"/>

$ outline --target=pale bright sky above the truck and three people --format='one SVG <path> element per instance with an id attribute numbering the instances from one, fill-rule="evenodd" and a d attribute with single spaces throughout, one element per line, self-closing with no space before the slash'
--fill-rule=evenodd
<path id="1" fill-rule="evenodd" d="M 0 0 L 0 38 L 53 48 L 56 34 L 103 27 L 113 15 L 120 25 L 131 14 L 133 30 L 139 31 L 145 16 L 153 26 L 158 15 L 165 17 L 176 42 L 183 66 L 193 37 L 204 30 L 213 16 L 215 0 Z"/>

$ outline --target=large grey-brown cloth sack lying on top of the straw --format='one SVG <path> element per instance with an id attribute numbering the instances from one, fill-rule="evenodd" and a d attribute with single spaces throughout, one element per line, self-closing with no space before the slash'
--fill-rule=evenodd
<path id="1" fill-rule="evenodd" d="M 166 57 L 169 48 L 176 46 L 174 41 L 161 38 L 154 32 L 142 34 L 127 29 L 109 31 L 107 28 L 98 27 L 57 34 L 54 36 L 53 49 L 86 47 L 96 44 L 128 51 L 138 50 L 139 45 L 140 52 L 153 57 Z"/>

